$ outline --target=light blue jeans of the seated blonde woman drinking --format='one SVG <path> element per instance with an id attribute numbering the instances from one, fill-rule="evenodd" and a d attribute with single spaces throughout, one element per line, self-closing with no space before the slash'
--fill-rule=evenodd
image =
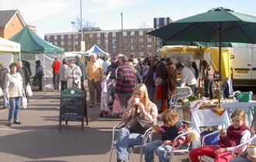
<path id="1" fill-rule="evenodd" d="M 143 137 L 140 133 L 130 133 L 126 127 L 120 129 L 116 141 L 116 159 L 129 161 L 129 148 L 140 145 Z"/>

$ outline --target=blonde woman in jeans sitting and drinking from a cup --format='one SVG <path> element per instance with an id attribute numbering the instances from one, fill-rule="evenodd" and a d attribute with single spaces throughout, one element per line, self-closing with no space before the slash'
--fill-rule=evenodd
<path id="1" fill-rule="evenodd" d="M 133 88 L 132 99 L 123 113 L 123 121 L 126 126 L 119 130 L 119 136 L 116 141 L 116 159 L 118 162 L 128 162 L 129 147 L 140 145 L 143 140 L 143 134 L 130 132 L 136 107 L 139 118 L 152 124 L 157 123 L 157 106 L 149 100 L 147 87 L 143 83 L 139 83 Z"/>

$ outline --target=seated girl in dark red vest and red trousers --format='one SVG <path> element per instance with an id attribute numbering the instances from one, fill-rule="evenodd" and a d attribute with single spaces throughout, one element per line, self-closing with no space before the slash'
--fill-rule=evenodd
<path id="1" fill-rule="evenodd" d="M 234 147 L 251 138 L 251 130 L 245 124 L 244 110 L 235 110 L 231 114 L 231 120 L 233 124 L 227 128 L 227 133 L 224 130 L 220 131 L 220 145 L 205 146 L 190 150 L 189 158 L 191 162 L 199 161 L 199 156 L 202 155 L 215 157 L 215 162 L 230 161 Z M 246 147 L 240 147 L 236 153 L 242 153 Z"/>

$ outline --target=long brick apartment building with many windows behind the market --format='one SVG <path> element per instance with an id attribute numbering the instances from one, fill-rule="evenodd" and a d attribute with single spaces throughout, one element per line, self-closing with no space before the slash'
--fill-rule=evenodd
<path id="1" fill-rule="evenodd" d="M 100 30 L 99 27 L 85 30 L 83 40 L 85 51 L 93 45 L 99 46 L 102 50 L 111 53 L 113 56 L 118 53 L 134 56 L 146 56 L 156 52 L 154 36 L 147 35 L 154 29 L 123 29 L 123 50 L 121 30 Z M 47 33 L 44 39 L 56 46 L 61 46 L 66 52 L 80 51 L 81 32 Z"/>

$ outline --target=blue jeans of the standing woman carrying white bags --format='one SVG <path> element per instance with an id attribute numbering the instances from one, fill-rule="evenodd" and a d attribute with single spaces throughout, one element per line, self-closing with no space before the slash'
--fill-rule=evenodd
<path id="1" fill-rule="evenodd" d="M 14 117 L 15 121 L 18 121 L 21 99 L 22 99 L 21 96 L 12 97 L 9 99 L 10 109 L 9 109 L 8 123 L 12 123 L 12 116 Z"/>

